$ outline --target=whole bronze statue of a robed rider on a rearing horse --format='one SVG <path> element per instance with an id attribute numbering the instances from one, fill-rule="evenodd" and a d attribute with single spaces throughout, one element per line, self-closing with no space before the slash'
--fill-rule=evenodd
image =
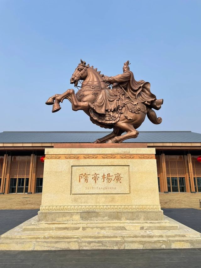
<path id="1" fill-rule="evenodd" d="M 80 80 L 83 80 L 82 86 L 76 94 L 73 89 L 68 89 L 50 97 L 46 104 L 53 105 L 52 112 L 57 112 L 61 109 L 59 103 L 68 99 L 73 111 L 83 110 L 94 124 L 113 129 L 111 134 L 94 143 L 121 143 L 125 139 L 136 138 L 139 134 L 136 129 L 146 114 L 152 123 L 162 122 L 152 109 L 159 110 L 163 99 L 157 100 L 151 93 L 149 82 L 134 79 L 129 61 L 124 63 L 123 74 L 108 77 L 81 60 L 70 83 L 77 87 Z M 124 132 L 126 134 L 122 135 Z"/>

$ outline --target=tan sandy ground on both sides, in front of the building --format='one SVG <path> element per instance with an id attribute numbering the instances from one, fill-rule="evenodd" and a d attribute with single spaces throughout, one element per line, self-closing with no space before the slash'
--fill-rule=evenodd
<path id="1" fill-rule="evenodd" d="M 42 194 L 2 194 L 0 209 L 40 209 Z M 199 207 L 201 193 L 198 194 L 160 194 L 162 208 L 196 208 Z"/>

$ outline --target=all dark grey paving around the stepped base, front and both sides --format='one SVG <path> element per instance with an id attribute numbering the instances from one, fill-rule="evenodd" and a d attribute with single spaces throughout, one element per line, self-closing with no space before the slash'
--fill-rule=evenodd
<path id="1" fill-rule="evenodd" d="M 0 210 L 0 233 L 38 210 Z M 201 211 L 164 209 L 164 214 L 201 232 Z M 1 268 L 201 268 L 201 249 L 0 251 Z"/>

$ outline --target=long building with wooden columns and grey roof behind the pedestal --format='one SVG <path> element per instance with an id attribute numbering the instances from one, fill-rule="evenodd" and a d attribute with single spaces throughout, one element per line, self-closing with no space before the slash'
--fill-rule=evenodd
<path id="1" fill-rule="evenodd" d="M 109 132 L 2 132 L 0 133 L 0 194 L 41 193 L 45 148 L 83 143 Z M 145 131 L 126 140 L 137 147 L 156 149 L 159 192 L 201 192 L 201 134 L 191 131 Z M 87 148 L 86 148 L 87 151 Z M 55 182 L 57 183 L 57 182 Z"/>

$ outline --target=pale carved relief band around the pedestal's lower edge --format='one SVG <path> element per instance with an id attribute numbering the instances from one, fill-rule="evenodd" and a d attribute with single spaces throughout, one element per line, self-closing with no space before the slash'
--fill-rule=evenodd
<path id="1" fill-rule="evenodd" d="M 90 211 L 161 211 L 160 205 L 41 205 L 40 213 L 45 212 L 90 212 Z"/>

